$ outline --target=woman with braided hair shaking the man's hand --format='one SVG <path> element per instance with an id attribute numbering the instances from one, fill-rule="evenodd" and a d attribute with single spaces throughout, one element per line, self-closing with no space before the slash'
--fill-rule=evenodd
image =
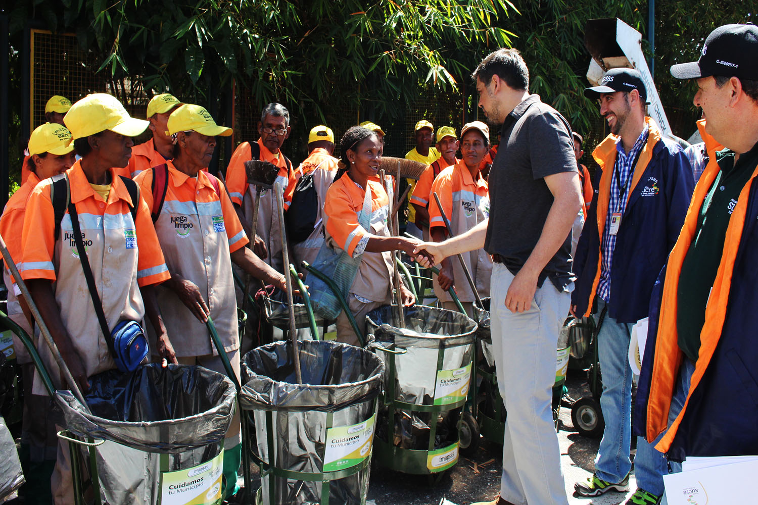
<path id="1" fill-rule="evenodd" d="M 392 303 L 390 279 L 395 265 L 390 251 L 412 254 L 419 243 L 412 238 L 390 236 L 387 227 L 390 198 L 378 176 L 383 148 L 376 132 L 362 126 L 349 128 L 340 141 L 340 170 L 324 202 L 327 246 L 337 252 L 345 251 L 354 259 L 360 258 L 347 304 L 361 328 L 367 313 Z M 387 180 L 391 181 L 390 176 Z M 371 208 L 364 209 L 368 203 Z M 362 222 L 370 225 L 364 226 Z M 400 291 L 402 304 L 407 307 L 415 303 L 404 285 Z M 344 312 L 337 316 L 337 340 L 359 343 Z"/>

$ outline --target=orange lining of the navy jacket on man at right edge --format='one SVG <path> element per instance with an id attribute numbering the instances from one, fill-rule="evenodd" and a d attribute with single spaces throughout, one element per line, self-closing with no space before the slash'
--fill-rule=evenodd
<path id="1" fill-rule="evenodd" d="M 690 248 L 695 230 L 697 229 L 700 207 L 702 207 L 703 200 L 720 170 L 715 154 L 717 150 L 722 149 L 722 146 L 705 132 L 703 126 L 704 120 L 698 122 L 700 134 L 706 143 L 710 159 L 703 171 L 703 175 L 700 176 L 695 186 L 695 193 L 692 197 L 687 217 L 684 220 L 684 226 L 681 228 L 681 234 L 671 251 L 666 267 L 666 279 L 663 284 L 660 316 L 656 332 L 652 369 L 653 380 L 650 382 L 650 393 L 647 396 L 648 440 L 653 440 L 659 434 L 666 431 L 674 385 L 678 379 L 679 365 L 682 360 L 686 359 L 678 347 L 676 328 L 679 274 L 681 273 L 681 265 L 684 263 L 684 257 Z M 666 435 L 663 435 L 656 445 L 656 449 L 662 452 L 668 451 L 669 447 L 671 447 L 684 413 L 688 408 L 692 393 L 700 384 L 700 380 L 703 379 L 703 375 L 706 373 L 706 369 L 708 369 L 709 363 L 716 352 L 716 347 L 719 344 L 719 339 L 722 336 L 722 328 L 728 310 L 735 257 L 737 256 L 745 226 L 750 186 L 753 185 L 753 179 L 755 179 L 756 175 L 758 175 L 758 167 L 753 170 L 750 181 L 744 185 L 744 188 L 740 192 L 735 210 L 732 211 L 729 218 L 721 262 L 719 263 L 716 279 L 713 282 L 713 288 L 711 288 L 708 303 L 706 304 L 705 323 L 700 332 L 700 351 L 697 363 L 695 363 L 695 371 L 691 377 L 690 392 L 681 413 L 674 420 Z M 748 401 L 748 399 L 746 398 L 745 401 Z M 739 413 L 730 412 L 725 413 L 725 415 L 739 415 Z"/>

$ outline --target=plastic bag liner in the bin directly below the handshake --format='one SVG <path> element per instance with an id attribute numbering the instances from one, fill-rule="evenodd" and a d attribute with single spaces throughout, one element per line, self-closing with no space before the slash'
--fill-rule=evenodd
<path id="1" fill-rule="evenodd" d="M 396 354 L 395 377 L 387 376 L 384 391 L 394 381 L 395 399 L 416 405 L 434 404 L 434 387 L 437 383 L 437 354 L 443 349 L 442 369 L 458 369 L 471 363 L 474 353 L 477 323 L 465 314 L 452 310 L 416 305 L 404 307 L 406 328 L 399 328 L 396 307 L 381 307 L 366 316 L 369 347 L 395 344 L 406 349 Z M 382 360 L 389 354 L 377 351 Z M 446 447 L 458 440 L 457 423 L 460 409 L 440 413 L 434 447 Z M 430 413 L 399 410 L 395 417 L 394 433 L 387 433 L 387 407 L 380 408 L 377 420 L 377 437 L 404 449 L 427 450 L 431 433 Z"/>

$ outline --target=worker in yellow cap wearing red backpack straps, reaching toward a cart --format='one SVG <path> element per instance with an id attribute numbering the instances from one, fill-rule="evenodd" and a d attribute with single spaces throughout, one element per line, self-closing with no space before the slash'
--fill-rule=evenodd
<path id="1" fill-rule="evenodd" d="M 216 136 L 230 136 L 232 129 L 218 126 L 205 108 L 193 104 L 177 108 L 167 126 L 174 139 L 174 159 L 135 178 L 152 210 L 171 273 L 171 279 L 158 287 L 158 304 L 179 363 L 226 374 L 205 327 L 211 316 L 239 379 L 232 261 L 280 289 L 285 288 L 284 276 L 245 247 L 249 241 L 226 189 L 206 171 Z M 236 470 L 242 457 L 239 414 L 235 419 L 224 441 L 224 497 L 236 492 Z"/>

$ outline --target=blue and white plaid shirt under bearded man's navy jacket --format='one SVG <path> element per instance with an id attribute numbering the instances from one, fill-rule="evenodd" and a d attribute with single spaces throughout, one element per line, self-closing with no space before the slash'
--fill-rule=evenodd
<path id="1" fill-rule="evenodd" d="M 631 178 L 634 173 L 634 162 L 637 160 L 637 155 L 640 154 L 646 142 L 647 125 L 637 138 L 637 142 L 634 142 L 629 154 L 624 153 L 624 145 L 621 142 L 621 137 L 616 141 L 616 151 L 619 151 L 619 153 L 616 154 L 615 167 L 613 167 L 613 173 L 611 176 L 611 194 L 608 202 L 608 215 L 606 216 L 606 226 L 603 229 L 603 242 L 600 251 L 603 260 L 600 262 L 600 281 L 597 282 L 597 295 L 606 302 L 609 301 L 611 296 L 611 264 L 613 261 L 616 238 L 616 235 L 611 235 L 610 233 L 611 218 L 614 213 L 620 213 L 622 215 L 622 223 L 624 221 L 623 216 L 630 191 L 629 185 L 631 185 Z M 624 198 L 621 198 L 622 186 L 625 187 Z"/>

